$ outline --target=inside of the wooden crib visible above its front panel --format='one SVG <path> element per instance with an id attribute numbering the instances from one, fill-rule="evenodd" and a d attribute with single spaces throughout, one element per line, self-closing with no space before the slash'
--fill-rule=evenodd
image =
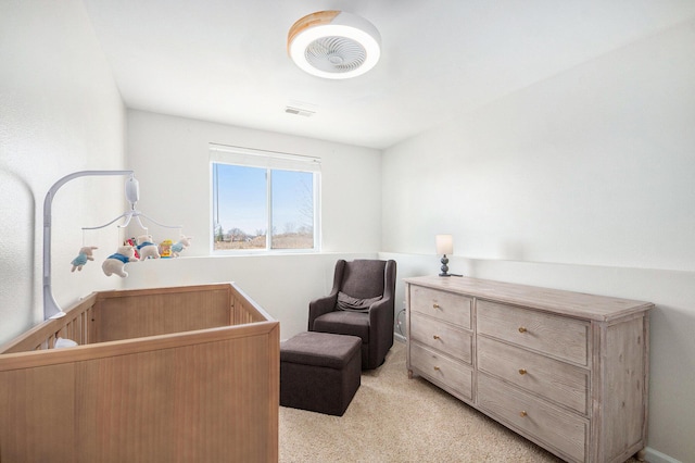
<path id="1" fill-rule="evenodd" d="M 101 291 L 0 347 L 0 354 L 79 346 L 273 320 L 236 284 Z"/>

